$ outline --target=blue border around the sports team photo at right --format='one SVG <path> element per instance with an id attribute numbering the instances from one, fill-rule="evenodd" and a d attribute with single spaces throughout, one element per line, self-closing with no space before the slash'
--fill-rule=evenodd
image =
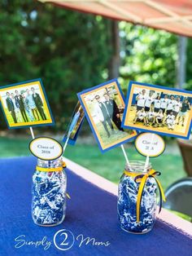
<path id="1" fill-rule="evenodd" d="M 168 137 L 176 137 L 176 138 L 181 138 L 181 139 L 189 139 L 190 138 L 190 131 L 191 131 L 191 128 L 192 128 L 192 121 L 190 121 L 190 127 L 189 127 L 189 130 L 188 130 L 188 133 L 187 133 L 186 136 L 172 135 L 172 134 L 167 134 L 166 132 L 160 132 L 160 131 L 148 130 L 148 129 L 141 129 L 141 128 L 137 128 L 137 127 L 134 127 L 134 126 L 125 126 L 124 121 L 125 121 L 126 113 L 127 113 L 127 110 L 128 110 L 129 96 L 130 96 L 133 84 L 138 85 L 138 86 L 148 86 L 148 87 L 151 87 L 151 88 L 158 88 L 158 89 L 162 89 L 162 90 L 172 90 L 172 91 L 176 91 L 176 92 L 188 93 L 188 94 L 191 94 L 191 98 L 192 98 L 192 92 L 190 90 L 181 90 L 181 89 L 177 89 L 177 88 L 169 88 L 169 87 L 164 87 L 164 86 L 151 85 L 151 84 L 148 84 L 148 83 L 145 83 L 145 82 L 130 81 L 129 86 L 128 86 L 127 97 L 126 97 L 126 101 L 125 101 L 124 115 L 123 115 L 123 119 L 122 119 L 122 123 L 121 123 L 123 128 L 133 129 L 133 130 L 141 130 L 142 132 L 151 131 L 151 133 L 155 133 L 157 135 L 167 135 Z"/>

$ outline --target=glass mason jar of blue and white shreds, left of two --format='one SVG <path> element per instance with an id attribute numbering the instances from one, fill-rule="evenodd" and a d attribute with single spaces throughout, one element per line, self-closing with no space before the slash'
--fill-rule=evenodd
<path id="1" fill-rule="evenodd" d="M 38 159 L 33 174 L 32 216 L 40 226 L 55 226 L 63 222 L 66 213 L 67 176 L 62 157 L 45 161 Z"/>

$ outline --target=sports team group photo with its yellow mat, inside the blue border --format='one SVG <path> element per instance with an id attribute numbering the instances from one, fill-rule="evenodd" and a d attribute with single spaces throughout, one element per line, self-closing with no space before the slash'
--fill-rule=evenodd
<path id="1" fill-rule="evenodd" d="M 190 93 L 137 85 L 131 91 L 124 126 L 187 135 L 191 123 Z"/>

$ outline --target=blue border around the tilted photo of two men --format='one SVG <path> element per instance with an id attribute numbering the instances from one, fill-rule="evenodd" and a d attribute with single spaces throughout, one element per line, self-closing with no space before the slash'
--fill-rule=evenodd
<path id="1" fill-rule="evenodd" d="M 107 81 L 107 82 L 103 82 L 102 84 L 99 84 L 98 86 L 93 86 L 93 87 L 91 87 L 91 88 L 89 88 L 89 89 L 85 89 L 85 90 L 82 90 L 81 92 L 77 93 L 77 96 L 78 96 L 78 99 L 79 99 L 79 101 L 80 101 L 80 103 L 81 103 L 81 106 L 82 106 L 82 108 L 84 109 L 85 117 L 86 117 L 87 121 L 89 122 L 89 126 L 90 126 L 90 128 L 91 128 L 91 130 L 92 130 L 92 132 L 93 132 L 93 134 L 94 134 L 94 138 L 96 139 L 96 141 L 97 141 L 97 143 L 98 143 L 98 147 L 99 147 L 99 149 L 101 150 L 101 152 L 107 152 L 107 151 L 109 151 L 109 150 L 112 149 L 112 148 L 116 148 L 116 147 L 120 146 L 120 145 L 123 144 L 123 143 L 129 142 L 129 141 L 135 139 L 135 138 L 137 137 L 137 135 L 138 135 L 138 132 L 137 132 L 136 129 L 131 129 L 131 130 L 135 130 L 135 131 L 136 131 L 136 135 L 135 135 L 135 136 L 131 137 L 130 139 L 125 139 L 123 142 L 116 143 L 115 145 L 112 145 L 112 146 L 109 147 L 109 148 L 105 148 L 105 149 L 102 148 L 102 145 L 101 145 L 101 143 L 100 143 L 100 141 L 99 141 L 99 139 L 98 139 L 98 136 L 96 135 L 96 132 L 94 131 L 94 126 L 92 125 L 92 122 L 91 122 L 90 119 L 89 119 L 89 115 L 88 115 L 88 113 L 87 113 L 87 111 L 86 111 L 85 105 L 83 104 L 83 102 L 82 102 L 82 100 L 81 100 L 81 95 L 83 95 L 83 94 L 85 94 L 86 92 L 89 92 L 89 91 L 91 91 L 91 90 L 95 90 L 95 89 L 98 89 L 98 88 L 100 88 L 100 87 L 107 86 L 107 85 L 108 85 L 109 83 L 111 83 L 111 82 L 116 82 L 116 85 L 117 85 L 118 89 L 120 90 L 120 95 L 122 96 L 122 99 L 124 99 L 124 102 L 125 102 L 124 94 L 123 94 L 123 92 L 122 92 L 122 90 L 121 90 L 121 88 L 120 88 L 120 84 L 119 84 L 117 78 L 111 79 L 111 80 L 109 80 L 109 81 Z M 124 109 L 125 109 L 125 108 L 124 108 Z"/>

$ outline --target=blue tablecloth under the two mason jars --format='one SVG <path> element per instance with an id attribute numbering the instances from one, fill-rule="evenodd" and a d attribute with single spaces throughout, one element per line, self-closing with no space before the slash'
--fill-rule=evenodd
<path id="1" fill-rule="evenodd" d="M 154 229 L 145 235 L 133 235 L 120 230 L 116 214 L 116 196 L 97 188 L 92 183 L 81 179 L 67 170 L 68 200 L 67 216 L 62 224 L 56 227 L 39 227 L 31 217 L 31 181 L 36 159 L 20 157 L 1 159 L 0 183 L 0 255 L 192 255 L 192 240 L 189 236 L 156 221 Z M 71 246 L 71 249 L 60 250 L 55 246 L 54 236 L 59 230 L 56 245 L 59 248 Z M 73 234 L 73 238 L 72 238 Z M 45 240 L 46 236 L 46 240 Z M 19 237 L 19 238 L 18 238 Z M 81 245 L 81 238 L 94 238 L 87 245 Z M 15 248 L 18 239 L 24 241 L 50 242 L 45 245 L 23 245 Z M 62 239 L 62 241 L 57 241 Z M 78 240 L 77 240 L 78 239 Z M 108 245 L 107 241 L 110 243 Z M 94 245 L 93 245 L 93 242 Z M 103 244 L 97 244 L 103 242 Z M 81 246 L 80 246 L 81 245 Z M 17 245 L 18 246 L 18 245 Z M 67 246 L 67 247 L 66 247 Z"/>

